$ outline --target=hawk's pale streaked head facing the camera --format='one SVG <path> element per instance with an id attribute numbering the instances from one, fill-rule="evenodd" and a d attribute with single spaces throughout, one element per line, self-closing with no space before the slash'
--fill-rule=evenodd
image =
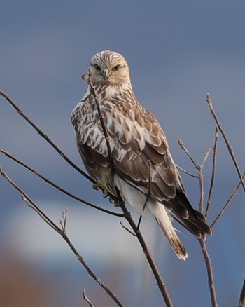
<path id="1" fill-rule="evenodd" d="M 114 51 L 102 51 L 92 57 L 90 64 L 92 82 L 96 85 L 128 86 L 130 70 L 127 61 Z"/>

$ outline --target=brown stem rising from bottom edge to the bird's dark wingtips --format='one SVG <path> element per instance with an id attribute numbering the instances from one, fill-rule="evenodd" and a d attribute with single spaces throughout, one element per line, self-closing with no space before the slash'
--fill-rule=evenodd
<path id="1" fill-rule="evenodd" d="M 218 307 L 217 299 L 216 299 L 216 291 L 214 287 L 214 275 L 213 275 L 213 268 L 211 265 L 211 259 L 209 257 L 209 253 L 207 251 L 207 246 L 204 240 L 199 240 L 201 248 L 202 248 L 202 254 L 204 255 L 205 264 L 207 267 L 207 273 L 208 273 L 208 281 L 209 281 L 209 291 L 211 296 L 211 304 L 212 307 Z"/>

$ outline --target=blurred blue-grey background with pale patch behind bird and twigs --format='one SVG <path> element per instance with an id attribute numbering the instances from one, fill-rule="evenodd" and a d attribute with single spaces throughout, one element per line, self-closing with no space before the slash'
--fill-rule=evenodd
<path id="1" fill-rule="evenodd" d="M 178 165 L 195 172 L 178 139 L 197 163 L 202 163 L 214 144 L 214 119 L 206 102 L 210 93 L 243 172 L 244 13 L 243 1 L 2 0 L 0 89 L 83 168 L 70 123 L 71 111 L 86 89 L 80 76 L 94 53 L 116 50 L 129 62 L 134 93 L 160 121 Z M 3 97 L 0 147 L 71 193 L 120 212 Z M 0 165 L 57 223 L 68 209 L 69 238 L 125 306 L 162 306 L 139 243 L 120 226 L 120 218 L 76 203 L 3 155 Z M 191 203 L 198 207 L 197 180 L 182 177 Z M 204 166 L 205 203 L 210 177 L 211 156 Z M 220 137 L 209 224 L 238 182 Z M 224 307 L 237 306 L 244 279 L 244 208 L 244 192 L 239 190 L 207 240 L 218 303 Z M 87 306 L 81 297 L 83 289 L 94 306 L 115 306 L 64 240 L 22 202 L 3 177 L 0 209 L 1 306 Z M 127 226 L 127 221 L 123 224 Z M 174 226 L 183 233 L 187 261 L 175 256 L 151 217 L 141 223 L 174 306 L 210 306 L 200 245 L 181 226 Z"/>

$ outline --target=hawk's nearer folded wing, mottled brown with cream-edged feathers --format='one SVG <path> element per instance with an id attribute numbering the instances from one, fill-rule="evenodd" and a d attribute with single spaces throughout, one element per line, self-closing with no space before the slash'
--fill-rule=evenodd
<path id="1" fill-rule="evenodd" d="M 151 161 L 151 197 L 180 217 L 195 219 L 169 153 L 165 133 L 155 117 L 139 105 L 123 102 L 104 102 L 102 111 L 116 173 L 148 194 Z"/>

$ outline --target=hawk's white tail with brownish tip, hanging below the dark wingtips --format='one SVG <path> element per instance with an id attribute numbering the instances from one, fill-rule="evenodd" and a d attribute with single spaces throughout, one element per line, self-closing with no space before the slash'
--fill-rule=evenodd
<path id="1" fill-rule="evenodd" d="M 148 200 L 147 209 L 153 214 L 153 217 L 155 217 L 176 255 L 180 259 L 186 260 L 188 254 L 181 240 L 176 235 L 176 231 L 169 219 L 165 206 L 155 200 Z"/>

